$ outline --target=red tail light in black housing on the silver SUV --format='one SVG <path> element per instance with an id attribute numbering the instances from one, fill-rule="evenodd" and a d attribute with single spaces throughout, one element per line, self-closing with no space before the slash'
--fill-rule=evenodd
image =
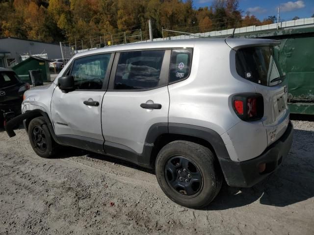
<path id="1" fill-rule="evenodd" d="M 264 115 L 262 94 L 244 93 L 232 97 L 235 114 L 244 121 L 261 119 Z"/>

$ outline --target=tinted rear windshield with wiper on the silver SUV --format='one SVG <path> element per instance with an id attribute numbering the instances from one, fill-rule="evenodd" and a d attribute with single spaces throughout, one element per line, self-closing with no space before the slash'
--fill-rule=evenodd
<path id="1" fill-rule="evenodd" d="M 279 47 L 246 47 L 236 51 L 237 73 L 252 82 L 275 86 L 284 79 L 279 67 Z"/>

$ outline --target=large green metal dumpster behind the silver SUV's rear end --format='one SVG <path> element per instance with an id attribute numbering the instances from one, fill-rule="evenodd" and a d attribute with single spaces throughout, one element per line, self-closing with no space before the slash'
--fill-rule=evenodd
<path id="1" fill-rule="evenodd" d="M 314 26 L 235 34 L 239 38 L 279 40 L 280 65 L 288 79 L 292 114 L 314 115 Z"/>

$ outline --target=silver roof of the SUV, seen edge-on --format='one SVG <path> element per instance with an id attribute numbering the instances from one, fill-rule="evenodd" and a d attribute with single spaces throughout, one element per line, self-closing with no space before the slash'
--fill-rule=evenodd
<path id="1" fill-rule="evenodd" d="M 259 45 L 259 44 L 273 44 L 277 42 L 270 39 L 239 39 L 239 38 L 198 38 L 198 39 L 183 39 L 183 40 L 165 40 L 157 42 L 141 42 L 130 43 L 123 45 L 115 45 L 109 47 L 102 47 L 94 50 L 88 50 L 77 53 L 73 58 L 81 57 L 90 54 L 102 52 L 119 52 L 126 50 L 141 50 L 141 49 L 156 49 L 156 48 L 175 48 L 175 47 L 194 47 L 197 44 L 224 44 L 229 45 L 231 48 L 243 45 Z"/>

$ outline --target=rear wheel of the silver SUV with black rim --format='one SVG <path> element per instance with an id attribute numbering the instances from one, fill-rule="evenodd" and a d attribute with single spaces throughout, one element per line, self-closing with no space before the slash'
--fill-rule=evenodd
<path id="1" fill-rule="evenodd" d="M 195 209 L 209 205 L 223 179 L 209 148 L 189 141 L 165 145 L 157 155 L 155 172 L 160 188 L 172 201 Z"/>

